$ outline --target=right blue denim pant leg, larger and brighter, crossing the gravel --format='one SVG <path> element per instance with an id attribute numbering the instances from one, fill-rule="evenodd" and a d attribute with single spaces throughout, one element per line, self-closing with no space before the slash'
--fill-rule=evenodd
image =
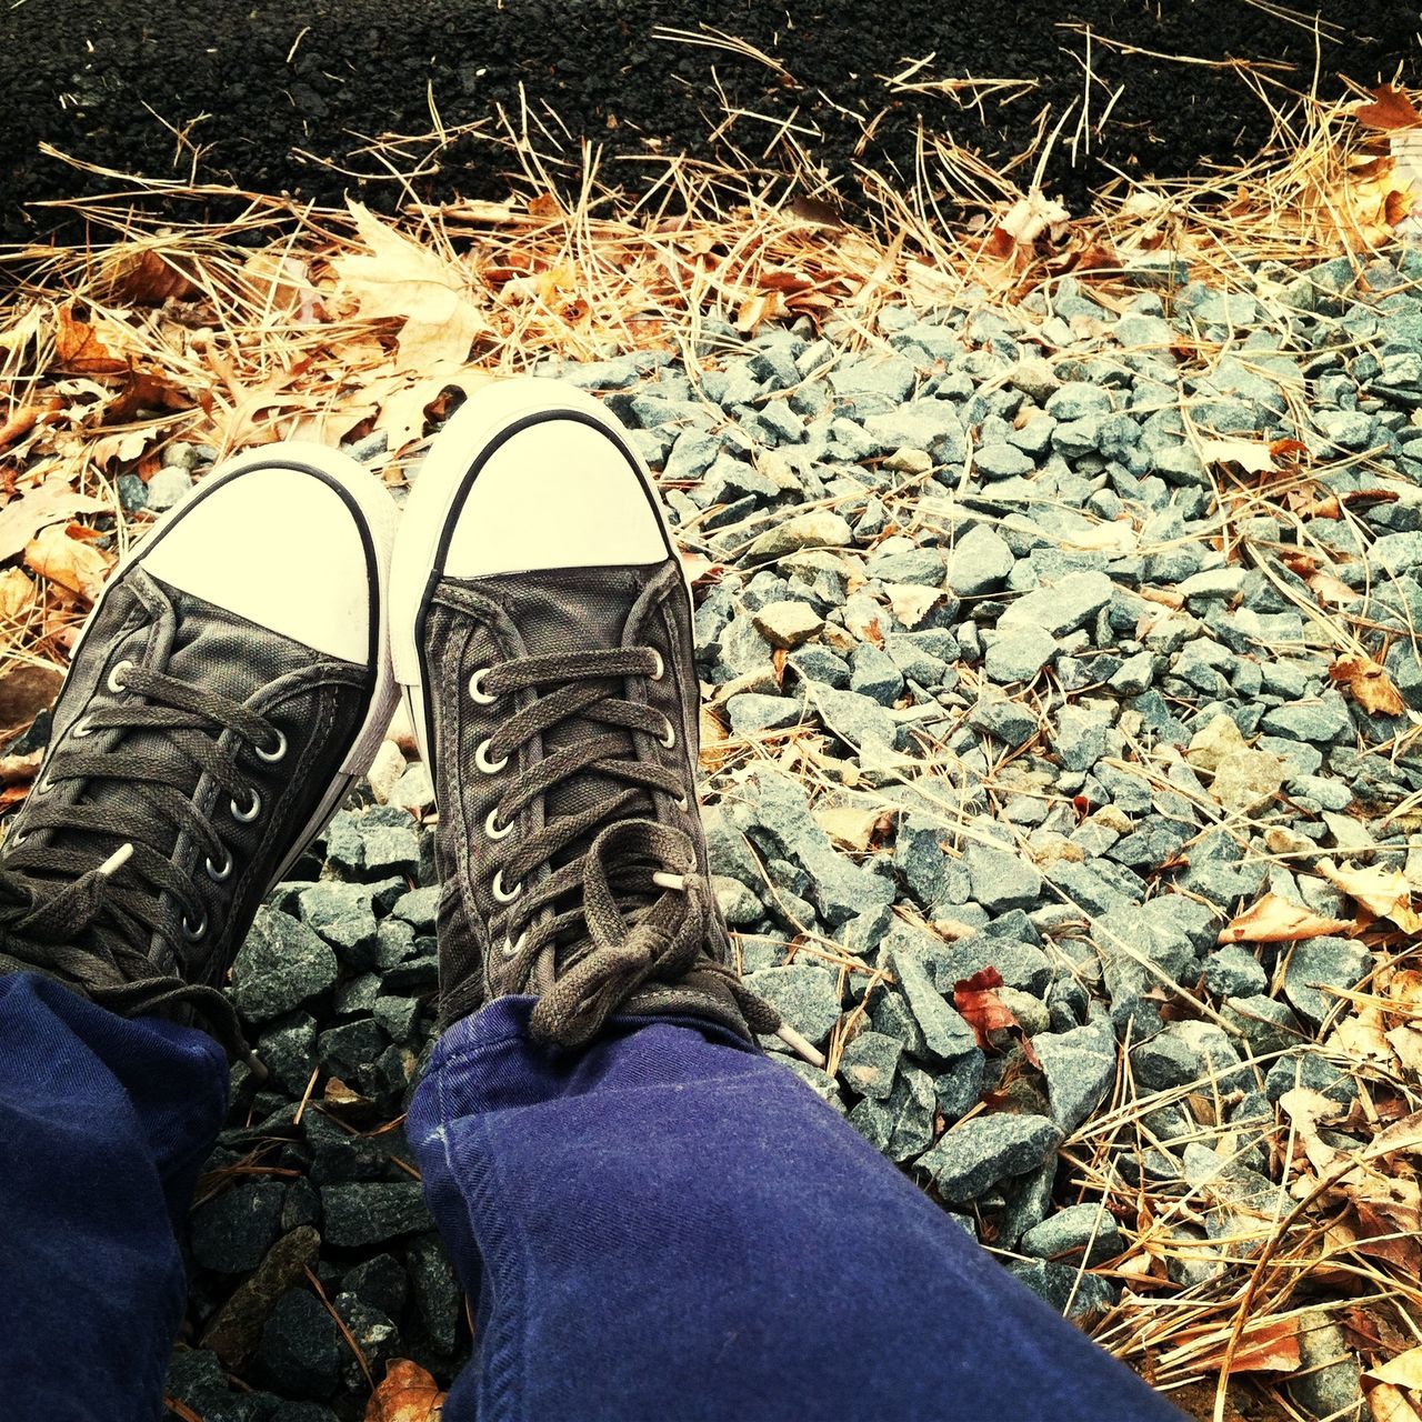
<path id="1" fill-rule="evenodd" d="M 451 1028 L 407 1122 L 476 1300 L 447 1422 L 1179 1422 L 784 1066 L 528 1012 Z"/>

